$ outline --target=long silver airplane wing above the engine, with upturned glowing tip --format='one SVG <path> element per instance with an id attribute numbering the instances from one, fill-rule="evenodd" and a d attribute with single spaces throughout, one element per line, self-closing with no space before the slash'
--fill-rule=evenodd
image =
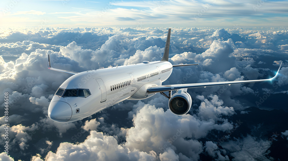
<path id="1" fill-rule="evenodd" d="M 152 86 L 148 87 L 147 93 L 158 93 L 158 92 L 165 92 L 165 91 L 172 91 L 177 89 L 183 88 L 197 88 L 197 87 L 209 87 L 209 86 L 218 86 L 218 85 L 232 85 L 232 84 L 239 84 L 239 83 L 253 83 L 253 82 L 262 82 L 262 81 L 271 81 L 276 78 L 278 72 L 281 68 L 282 63 L 273 78 L 269 79 L 260 79 L 260 80 L 250 80 L 250 81 L 227 81 L 227 82 L 209 82 L 209 83 L 193 83 L 193 84 L 181 84 L 181 85 L 162 85 L 162 86 Z"/>

